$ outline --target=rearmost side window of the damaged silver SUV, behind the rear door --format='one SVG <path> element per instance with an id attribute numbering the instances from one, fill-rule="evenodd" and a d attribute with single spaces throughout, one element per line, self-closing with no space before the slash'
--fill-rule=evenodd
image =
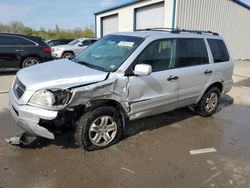
<path id="1" fill-rule="evenodd" d="M 229 61 L 229 54 L 225 43 L 219 39 L 208 39 L 208 44 L 213 54 L 214 62 Z"/>

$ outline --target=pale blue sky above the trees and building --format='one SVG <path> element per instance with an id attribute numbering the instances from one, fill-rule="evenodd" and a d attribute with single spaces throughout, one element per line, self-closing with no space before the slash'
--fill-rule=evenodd
<path id="1" fill-rule="evenodd" d="M 0 22 L 40 29 L 94 27 L 94 12 L 131 0 L 0 0 Z M 250 5 L 250 0 L 242 0 Z"/>

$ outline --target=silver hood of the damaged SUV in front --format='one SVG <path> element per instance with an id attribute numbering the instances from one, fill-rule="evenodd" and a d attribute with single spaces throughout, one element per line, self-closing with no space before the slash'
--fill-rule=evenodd
<path id="1" fill-rule="evenodd" d="M 17 73 L 18 79 L 28 90 L 45 88 L 66 89 L 78 85 L 105 80 L 107 72 L 91 69 L 68 59 L 50 61 L 24 68 Z"/>

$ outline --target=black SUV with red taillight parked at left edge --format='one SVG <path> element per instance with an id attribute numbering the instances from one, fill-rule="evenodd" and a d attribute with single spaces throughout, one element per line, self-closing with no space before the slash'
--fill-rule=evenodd
<path id="1" fill-rule="evenodd" d="M 52 59 L 51 48 L 40 37 L 0 33 L 0 71 L 14 71 Z"/>

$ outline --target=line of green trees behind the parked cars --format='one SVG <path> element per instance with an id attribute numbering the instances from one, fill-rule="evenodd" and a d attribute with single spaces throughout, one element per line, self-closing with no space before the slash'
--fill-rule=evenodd
<path id="1" fill-rule="evenodd" d="M 74 38 L 92 38 L 95 36 L 93 29 L 90 27 L 82 28 L 73 28 L 64 30 L 61 29 L 58 25 L 55 26 L 55 29 L 40 28 L 39 30 L 27 27 L 23 23 L 19 21 L 13 21 L 10 24 L 2 24 L 0 23 L 0 32 L 3 33 L 18 33 L 18 34 L 26 34 L 39 36 L 44 40 L 47 39 L 74 39 Z"/>

